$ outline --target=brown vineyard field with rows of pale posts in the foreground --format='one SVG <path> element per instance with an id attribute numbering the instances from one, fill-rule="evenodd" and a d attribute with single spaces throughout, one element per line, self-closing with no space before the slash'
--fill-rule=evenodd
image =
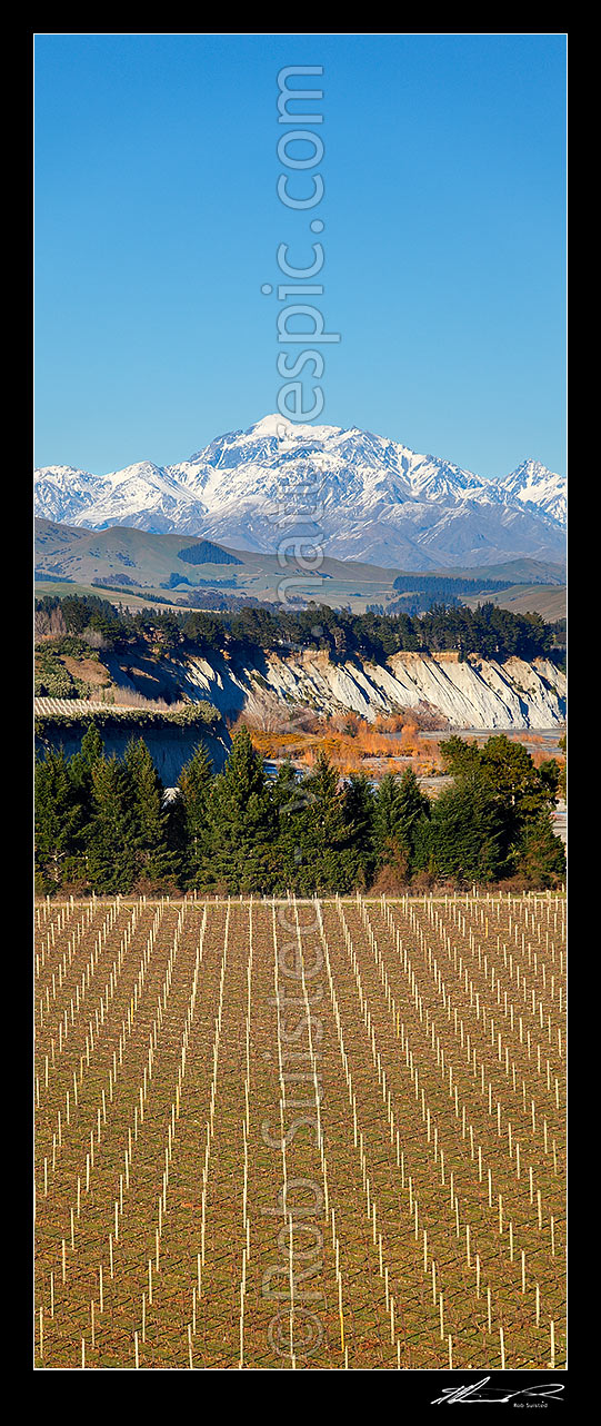
<path id="1" fill-rule="evenodd" d="M 564 1369 L 564 915 L 38 903 L 36 1366 Z"/>

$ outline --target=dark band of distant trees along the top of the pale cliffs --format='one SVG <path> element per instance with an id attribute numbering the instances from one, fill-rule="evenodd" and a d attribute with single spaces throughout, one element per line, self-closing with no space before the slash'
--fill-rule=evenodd
<path id="1" fill-rule="evenodd" d="M 238 613 L 152 607 L 130 613 L 122 605 L 113 605 L 100 596 L 46 595 L 36 602 L 36 613 L 38 620 L 46 616 L 48 625 L 58 613 L 67 633 L 93 630 L 107 649 L 121 650 L 145 643 L 165 655 L 177 650 L 228 652 L 231 657 L 244 657 L 249 649 L 259 647 L 278 653 L 323 649 L 332 659 L 359 656 L 373 662 L 402 650 L 454 650 L 460 657 L 479 655 L 498 662 L 511 656 L 527 662 L 555 656 L 554 629 L 541 615 L 517 615 L 493 603 L 479 605 L 477 609 L 437 605 L 422 616 L 377 615 L 373 610 L 353 615 L 315 603 L 293 612 L 259 606 Z"/>

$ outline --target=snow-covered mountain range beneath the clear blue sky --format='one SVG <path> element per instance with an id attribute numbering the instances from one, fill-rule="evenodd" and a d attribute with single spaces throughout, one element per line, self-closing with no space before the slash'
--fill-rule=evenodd
<path id="1" fill-rule="evenodd" d="M 366 431 L 279 415 L 169 466 L 38 468 L 36 515 L 87 529 L 205 535 L 308 560 L 319 545 L 338 559 L 407 570 L 565 556 L 565 481 L 537 461 L 486 481 Z"/>

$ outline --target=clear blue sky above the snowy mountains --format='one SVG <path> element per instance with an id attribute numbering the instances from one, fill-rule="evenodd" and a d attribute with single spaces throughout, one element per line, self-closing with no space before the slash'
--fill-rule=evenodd
<path id="1" fill-rule="evenodd" d="M 293 64 L 323 67 L 313 212 L 276 194 Z M 313 217 L 318 421 L 564 472 L 561 34 L 37 36 L 36 462 L 171 463 L 273 412 L 261 287 Z"/>

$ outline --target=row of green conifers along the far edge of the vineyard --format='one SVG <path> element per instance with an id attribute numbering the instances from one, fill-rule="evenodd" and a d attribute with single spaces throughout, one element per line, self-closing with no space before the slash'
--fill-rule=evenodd
<path id="1" fill-rule="evenodd" d="M 504 734 L 481 747 L 450 737 L 441 753 L 453 780 L 430 801 L 413 771 L 389 774 L 377 789 L 365 774 L 340 783 L 325 756 L 302 779 L 286 761 L 269 780 L 242 727 L 219 774 L 197 746 L 165 806 L 144 739 L 132 739 L 122 760 L 107 757 L 90 723 L 80 752 L 46 752 L 37 764 L 37 890 L 310 896 L 507 878 L 558 886 L 558 763 L 537 769 Z"/>

